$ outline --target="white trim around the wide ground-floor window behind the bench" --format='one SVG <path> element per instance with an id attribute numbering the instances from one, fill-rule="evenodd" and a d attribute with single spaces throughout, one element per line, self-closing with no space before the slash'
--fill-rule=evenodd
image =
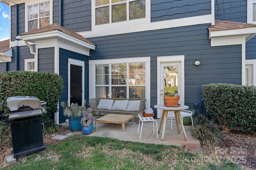
<path id="1" fill-rule="evenodd" d="M 95 65 L 98 64 L 120 64 L 120 63 L 146 63 L 146 106 L 150 107 L 150 57 L 136 57 L 125 59 L 106 59 L 106 60 L 90 60 L 89 61 L 89 98 L 95 98 Z"/>

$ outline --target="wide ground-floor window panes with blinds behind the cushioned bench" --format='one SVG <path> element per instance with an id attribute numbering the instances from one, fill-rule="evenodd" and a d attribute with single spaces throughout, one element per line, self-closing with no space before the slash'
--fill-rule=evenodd
<path id="1" fill-rule="evenodd" d="M 96 97 L 146 98 L 146 63 L 95 65 Z"/>

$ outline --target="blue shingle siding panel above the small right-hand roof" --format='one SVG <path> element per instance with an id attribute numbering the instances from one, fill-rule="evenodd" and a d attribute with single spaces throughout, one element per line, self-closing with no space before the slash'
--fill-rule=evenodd
<path id="1" fill-rule="evenodd" d="M 215 0 L 215 20 L 247 22 L 247 0 Z"/>

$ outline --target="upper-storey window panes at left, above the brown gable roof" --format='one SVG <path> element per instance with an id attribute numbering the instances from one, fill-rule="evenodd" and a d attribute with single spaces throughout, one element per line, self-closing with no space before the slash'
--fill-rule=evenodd
<path id="1" fill-rule="evenodd" d="M 50 24 L 50 1 L 28 5 L 28 31 Z"/>

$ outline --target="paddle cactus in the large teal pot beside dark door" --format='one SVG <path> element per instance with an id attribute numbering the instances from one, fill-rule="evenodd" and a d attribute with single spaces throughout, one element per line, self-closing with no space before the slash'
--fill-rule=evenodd
<path id="1" fill-rule="evenodd" d="M 81 131 L 81 119 L 83 113 L 86 111 L 85 104 L 84 106 L 78 106 L 78 104 L 70 104 L 68 106 L 65 102 L 61 102 L 60 106 L 63 107 L 64 116 L 68 117 L 68 123 L 71 131 Z"/>

